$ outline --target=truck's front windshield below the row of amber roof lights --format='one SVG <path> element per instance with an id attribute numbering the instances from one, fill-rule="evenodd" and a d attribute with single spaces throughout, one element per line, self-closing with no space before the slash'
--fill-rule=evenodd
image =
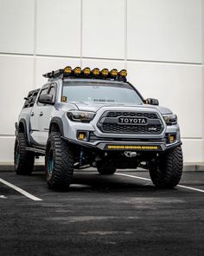
<path id="1" fill-rule="evenodd" d="M 61 99 L 63 102 L 143 103 L 130 84 L 119 82 L 63 82 Z"/>

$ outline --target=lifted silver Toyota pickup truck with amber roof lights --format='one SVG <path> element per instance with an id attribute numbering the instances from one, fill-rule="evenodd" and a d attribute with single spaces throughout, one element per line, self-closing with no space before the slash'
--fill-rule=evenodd
<path id="1" fill-rule="evenodd" d="M 45 156 L 48 187 L 67 189 L 73 169 L 150 170 L 156 187 L 175 187 L 182 176 L 177 117 L 156 99 L 143 99 L 122 69 L 49 72 L 41 89 L 29 92 L 16 122 L 16 174 L 31 174 Z"/>

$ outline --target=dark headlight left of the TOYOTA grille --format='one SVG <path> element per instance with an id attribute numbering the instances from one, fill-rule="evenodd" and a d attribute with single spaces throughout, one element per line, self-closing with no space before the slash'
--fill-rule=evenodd
<path id="1" fill-rule="evenodd" d="M 92 121 L 95 116 L 94 112 L 80 111 L 80 110 L 72 110 L 67 112 L 67 117 L 72 121 L 84 121 L 89 122 Z"/>

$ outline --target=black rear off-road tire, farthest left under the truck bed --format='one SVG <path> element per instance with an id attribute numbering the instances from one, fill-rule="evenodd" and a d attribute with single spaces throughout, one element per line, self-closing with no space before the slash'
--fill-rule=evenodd
<path id="1" fill-rule="evenodd" d="M 29 143 L 23 133 L 16 135 L 14 147 L 14 168 L 16 174 L 29 175 L 34 168 L 35 154 L 27 151 Z"/>

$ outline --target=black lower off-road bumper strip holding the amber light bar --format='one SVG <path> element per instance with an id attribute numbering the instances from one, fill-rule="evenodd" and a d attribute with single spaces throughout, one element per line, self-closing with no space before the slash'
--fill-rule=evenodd
<path id="1" fill-rule="evenodd" d="M 161 141 L 99 141 L 96 144 L 92 144 L 86 141 L 67 139 L 66 137 L 62 137 L 62 139 L 80 147 L 100 151 L 146 151 L 159 153 L 182 145 L 182 141 L 172 144 L 165 144 Z"/>

